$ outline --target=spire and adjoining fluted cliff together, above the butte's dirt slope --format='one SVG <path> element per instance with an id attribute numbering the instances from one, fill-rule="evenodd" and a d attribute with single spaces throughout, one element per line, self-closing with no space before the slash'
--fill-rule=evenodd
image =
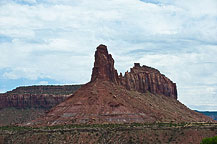
<path id="1" fill-rule="evenodd" d="M 124 76 L 122 74 L 118 76 L 114 68 L 114 59 L 105 45 L 98 46 L 95 52 L 91 82 L 96 79 L 112 81 L 128 90 L 162 94 L 177 99 L 176 84 L 154 68 L 135 63 L 130 72 L 126 72 Z"/>

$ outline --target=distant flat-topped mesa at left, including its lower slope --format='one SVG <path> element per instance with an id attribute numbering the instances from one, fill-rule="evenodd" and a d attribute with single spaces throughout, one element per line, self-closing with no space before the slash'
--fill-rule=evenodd
<path id="1" fill-rule="evenodd" d="M 0 126 L 34 120 L 70 97 L 81 85 L 18 87 L 0 94 Z"/>

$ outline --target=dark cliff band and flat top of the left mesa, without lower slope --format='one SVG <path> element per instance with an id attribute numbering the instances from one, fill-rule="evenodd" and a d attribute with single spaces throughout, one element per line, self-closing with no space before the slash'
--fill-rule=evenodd
<path id="1" fill-rule="evenodd" d="M 80 85 L 18 87 L 0 94 L 2 108 L 50 109 L 72 95 Z"/>

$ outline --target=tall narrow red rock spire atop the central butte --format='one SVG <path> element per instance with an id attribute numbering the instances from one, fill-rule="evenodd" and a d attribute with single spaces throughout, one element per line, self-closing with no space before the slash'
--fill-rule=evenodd
<path id="1" fill-rule="evenodd" d="M 114 68 L 114 59 L 108 54 L 105 45 L 99 45 L 95 52 L 95 63 L 92 70 L 91 82 L 96 79 L 119 83 L 117 70 Z"/>

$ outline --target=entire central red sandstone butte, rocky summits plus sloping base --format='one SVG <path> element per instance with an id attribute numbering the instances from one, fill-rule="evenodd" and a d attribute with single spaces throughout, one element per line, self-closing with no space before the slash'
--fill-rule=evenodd
<path id="1" fill-rule="evenodd" d="M 176 84 L 158 70 L 134 64 L 118 75 L 105 45 L 95 52 L 91 81 L 46 115 L 26 125 L 214 122 L 177 100 Z"/>

